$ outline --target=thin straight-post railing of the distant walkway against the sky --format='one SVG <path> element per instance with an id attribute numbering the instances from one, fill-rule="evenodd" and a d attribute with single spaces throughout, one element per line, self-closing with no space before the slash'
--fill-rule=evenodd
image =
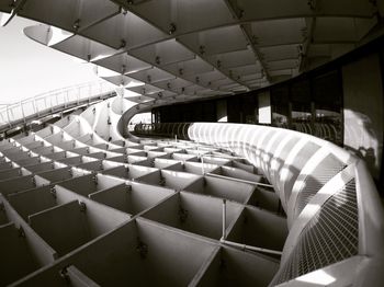
<path id="1" fill-rule="evenodd" d="M 0 131 L 39 117 L 114 96 L 106 82 L 88 82 L 49 91 L 0 108 Z"/>

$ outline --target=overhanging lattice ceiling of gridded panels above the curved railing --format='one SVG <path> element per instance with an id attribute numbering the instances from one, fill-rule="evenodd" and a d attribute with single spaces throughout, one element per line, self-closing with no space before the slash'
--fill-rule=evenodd
<path id="1" fill-rule="evenodd" d="M 376 2 L 2 0 L 0 11 L 44 23 L 24 33 L 93 62 L 138 102 L 170 103 L 256 90 L 327 62 L 377 24 Z"/>

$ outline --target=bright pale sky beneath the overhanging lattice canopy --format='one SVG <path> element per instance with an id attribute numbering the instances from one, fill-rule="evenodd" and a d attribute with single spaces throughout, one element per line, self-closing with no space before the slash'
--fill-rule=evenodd
<path id="1" fill-rule="evenodd" d="M 14 18 L 5 27 L 0 26 L 0 104 L 100 80 L 91 65 L 26 37 L 23 28 L 36 24 Z"/>

